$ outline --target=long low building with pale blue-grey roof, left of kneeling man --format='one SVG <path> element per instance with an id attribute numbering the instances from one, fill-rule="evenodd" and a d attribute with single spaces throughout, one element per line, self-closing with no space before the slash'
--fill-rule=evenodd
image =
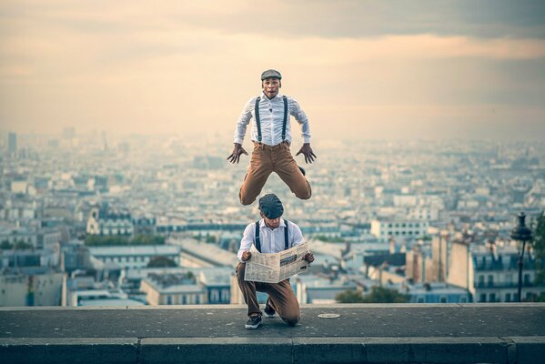
<path id="1" fill-rule="evenodd" d="M 181 249 L 172 245 L 91 247 L 91 256 L 121 268 L 145 268 L 156 257 L 165 257 L 180 265 Z"/>

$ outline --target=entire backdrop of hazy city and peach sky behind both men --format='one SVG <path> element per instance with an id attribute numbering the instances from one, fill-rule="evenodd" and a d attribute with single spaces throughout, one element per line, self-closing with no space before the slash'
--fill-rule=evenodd
<path id="1" fill-rule="evenodd" d="M 510 238 L 545 209 L 545 2 L 6 1 L 0 44 L 0 306 L 241 303 L 226 158 L 267 68 L 318 156 L 309 200 L 263 191 L 317 258 L 299 302 L 545 297 Z"/>

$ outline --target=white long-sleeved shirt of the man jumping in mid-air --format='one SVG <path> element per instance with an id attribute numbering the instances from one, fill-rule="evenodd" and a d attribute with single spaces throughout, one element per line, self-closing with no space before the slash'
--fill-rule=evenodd
<path id="1" fill-rule="evenodd" d="M 278 93 L 277 96 L 271 100 L 261 93 L 261 99 L 259 100 L 259 121 L 261 124 L 261 142 L 267 146 L 276 146 L 282 143 L 282 126 L 284 124 L 284 100 L 282 95 Z M 303 143 L 310 143 L 310 127 L 308 126 L 308 117 L 298 102 L 293 98 L 288 98 L 288 121 L 286 125 L 286 140 L 291 144 L 291 123 L 290 116 L 294 116 L 301 126 L 301 136 L 303 137 Z M 238 117 L 237 127 L 235 129 L 235 143 L 242 144 L 244 136 L 246 135 L 246 127 L 250 120 L 252 121 L 252 141 L 257 142 L 257 125 L 256 125 L 256 97 L 250 98 L 246 106 L 242 110 L 240 117 Z"/>

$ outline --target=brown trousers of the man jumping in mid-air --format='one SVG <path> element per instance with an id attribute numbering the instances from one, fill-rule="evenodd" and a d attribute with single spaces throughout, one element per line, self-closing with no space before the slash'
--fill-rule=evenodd
<path id="1" fill-rule="evenodd" d="M 301 199 L 310 198 L 310 184 L 291 156 L 288 142 L 282 142 L 276 146 L 254 142 L 250 167 L 247 169 L 247 175 L 238 193 L 240 203 L 249 205 L 254 202 L 273 172 L 277 173 L 295 196 Z"/>

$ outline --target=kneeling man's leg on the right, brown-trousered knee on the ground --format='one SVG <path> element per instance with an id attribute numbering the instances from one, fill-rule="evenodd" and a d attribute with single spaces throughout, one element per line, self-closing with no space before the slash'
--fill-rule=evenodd
<path id="1" fill-rule="evenodd" d="M 295 297 L 289 279 L 277 284 L 267 284 L 268 302 L 278 312 L 278 316 L 289 326 L 295 326 L 301 318 L 298 298 Z"/>

